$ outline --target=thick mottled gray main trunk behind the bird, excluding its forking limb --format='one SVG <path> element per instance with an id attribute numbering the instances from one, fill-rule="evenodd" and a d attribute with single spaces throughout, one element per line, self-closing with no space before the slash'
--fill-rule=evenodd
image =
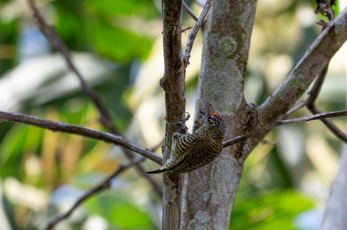
<path id="1" fill-rule="evenodd" d="M 252 109 L 244 98 L 244 79 L 256 1 L 215 0 L 205 21 L 194 129 L 198 110 L 219 113 L 227 124 L 225 140 L 244 134 Z M 237 144 L 196 171 L 183 174 L 181 229 L 228 229 L 243 171 Z"/>

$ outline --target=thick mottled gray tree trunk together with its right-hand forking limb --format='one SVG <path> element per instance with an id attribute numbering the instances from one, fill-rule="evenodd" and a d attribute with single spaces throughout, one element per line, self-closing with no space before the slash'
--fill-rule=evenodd
<path id="1" fill-rule="evenodd" d="M 258 109 L 244 98 L 244 79 L 256 1 L 215 0 L 204 27 L 194 128 L 198 110 L 217 112 L 227 123 L 226 139 L 282 117 L 307 90 L 347 38 L 346 10 L 327 29 L 282 85 Z M 181 229 L 228 229 L 235 195 L 249 153 L 266 135 L 223 149 L 209 165 L 183 175 Z"/>

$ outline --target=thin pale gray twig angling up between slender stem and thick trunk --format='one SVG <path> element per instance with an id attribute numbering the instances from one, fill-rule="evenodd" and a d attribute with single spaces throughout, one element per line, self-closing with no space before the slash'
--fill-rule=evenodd
<path id="1" fill-rule="evenodd" d="M 190 57 L 190 54 L 192 51 L 193 43 L 194 43 L 194 40 L 196 38 L 197 32 L 199 31 L 202 24 L 204 23 L 205 17 L 207 15 L 207 13 L 209 12 L 209 10 L 212 6 L 212 3 L 213 3 L 213 0 L 209 0 L 206 2 L 204 8 L 202 9 L 202 12 L 201 12 L 199 18 L 196 21 L 194 28 L 192 29 L 192 31 L 188 35 L 188 41 L 186 44 L 186 49 L 185 49 L 184 54 L 183 54 L 184 69 L 187 68 L 187 66 L 189 64 L 189 57 Z"/>

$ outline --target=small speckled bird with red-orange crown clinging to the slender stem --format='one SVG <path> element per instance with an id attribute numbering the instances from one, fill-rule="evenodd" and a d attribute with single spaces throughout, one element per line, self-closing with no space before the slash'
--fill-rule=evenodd
<path id="1" fill-rule="evenodd" d="M 217 113 L 200 113 L 204 117 L 203 126 L 191 134 L 176 132 L 172 136 L 169 159 L 163 167 L 147 172 L 148 174 L 191 172 L 219 156 L 223 149 L 225 122 Z"/>

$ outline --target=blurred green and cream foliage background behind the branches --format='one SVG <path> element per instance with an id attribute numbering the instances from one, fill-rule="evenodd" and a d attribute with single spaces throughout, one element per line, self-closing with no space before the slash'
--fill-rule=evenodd
<path id="1" fill-rule="evenodd" d="M 200 15 L 200 6 L 186 2 Z M 165 127 L 161 1 L 40 0 L 37 5 L 122 135 L 146 148 L 160 146 Z M 249 103 L 260 105 L 271 95 L 320 34 L 314 22 L 324 18 L 314 9 L 313 0 L 259 0 L 245 85 Z M 183 28 L 194 24 L 184 11 Z M 186 71 L 191 114 L 201 50 L 199 33 Z M 323 111 L 346 107 L 344 50 L 333 58 L 318 98 Z M 106 131 L 76 76 L 35 26 L 25 0 L 0 0 L 0 110 Z M 288 118 L 306 115 L 303 108 Z M 345 118 L 332 120 L 345 130 Z M 316 229 L 341 141 L 320 121 L 278 127 L 265 140 L 246 162 L 230 229 Z M 124 162 L 120 148 L 110 144 L 0 122 L 0 229 L 44 227 Z M 158 168 L 149 160 L 143 165 Z M 155 179 L 161 183 L 161 175 Z M 161 229 L 161 207 L 151 184 L 130 169 L 55 229 Z"/>

